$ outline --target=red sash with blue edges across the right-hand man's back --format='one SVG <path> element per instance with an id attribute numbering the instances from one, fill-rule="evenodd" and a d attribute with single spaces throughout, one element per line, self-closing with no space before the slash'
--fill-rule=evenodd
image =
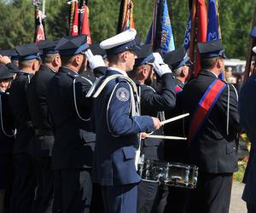
<path id="1" fill-rule="evenodd" d="M 198 103 L 198 106 L 195 109 L 194 115 L 190 122 L 189 127 L 189 142 L 193 141 L 195 135 L 201 130 L 202 125 L 207 120 L 212 108 L 214 107 L 216 101 L 218 100 L 219 95 L 226 87 L 226 83 L 220 79 L 213 81 L 210 86 L 207 88 L 207 91 L 202 96 L 201 100 Z"/>

